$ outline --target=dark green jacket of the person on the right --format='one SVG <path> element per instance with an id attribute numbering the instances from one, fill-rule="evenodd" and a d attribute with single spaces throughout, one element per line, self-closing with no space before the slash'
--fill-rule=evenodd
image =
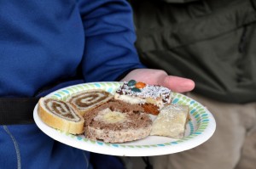
<path id="1" fill-rule="evenodd" d="M 179 2 L 179 3 L 173 3 Z M 143 63 L 195 81 L 195 93 L 256 101 L 256 0 L 131 0 Z"/>

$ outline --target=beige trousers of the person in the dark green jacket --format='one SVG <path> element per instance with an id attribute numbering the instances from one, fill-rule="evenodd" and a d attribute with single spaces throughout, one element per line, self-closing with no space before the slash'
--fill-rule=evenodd
<path id="1" fill-rule="evenodd" d="M 216 131 L 194 149 L 149 157 L 154 169 L 256 169 L 256 103 L 226 104 L 192 93 L 188 96 L 212 112 Z M 131 168 L 142 168 L 139 158 L 130 161 L 136 161 Z"/>

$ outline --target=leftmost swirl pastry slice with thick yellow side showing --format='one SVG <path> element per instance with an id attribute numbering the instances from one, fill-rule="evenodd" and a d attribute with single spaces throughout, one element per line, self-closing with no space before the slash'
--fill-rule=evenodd
<path id="1" fill-rule="evenodd" d="M 76 110 L 61 100 L 41 98 L 38 115 L 49 127 L 63 132 L 80 134 L 84 132 L 84 118 Z"/>

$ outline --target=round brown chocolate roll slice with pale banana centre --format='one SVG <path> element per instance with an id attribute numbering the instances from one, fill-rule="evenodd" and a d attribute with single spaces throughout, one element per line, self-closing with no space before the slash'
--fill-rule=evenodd
<path id="1" fill-rule="evenodd" d="M 84 135 L 105 143 L 124 143 L 146 138 L 152 127 L 143 108 L 120 100 L 111 100 L 84 114 Z"/>

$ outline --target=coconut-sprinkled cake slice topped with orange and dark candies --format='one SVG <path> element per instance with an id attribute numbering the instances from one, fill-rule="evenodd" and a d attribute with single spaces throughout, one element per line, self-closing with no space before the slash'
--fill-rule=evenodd
<path id="1" fill-rule="evenodd" d="M 159 110 L 172 102 L 172 91 L 159 85 L 149 85 L 131 80 L 124 82 L 114 94 L 114 99 L 130 104 L 141 104 L 145 112 L 158 115 Z"/>

